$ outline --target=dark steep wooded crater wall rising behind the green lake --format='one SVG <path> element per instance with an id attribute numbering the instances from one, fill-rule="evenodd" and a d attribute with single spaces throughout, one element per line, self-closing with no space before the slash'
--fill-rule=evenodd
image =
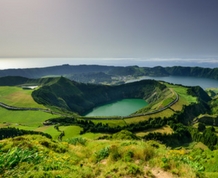
<path id="1" fill-rule="evenodd" d="M 77 83 L 60 77 L 33 91 L 32 96 L 40 104 L 85 114 L 96 106 L 125 98 L 143 98 L 152 103 L 160 98 L 165 88 L 155 80 L 107 86 Z"/>

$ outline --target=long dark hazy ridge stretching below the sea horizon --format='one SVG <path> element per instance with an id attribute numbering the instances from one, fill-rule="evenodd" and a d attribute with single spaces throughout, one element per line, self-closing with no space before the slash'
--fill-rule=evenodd
<path id="1" fill-rule="evenodd" d="M 0 77 L 5 76 L 21 76 L 26 78 L 41 78 L 45 76 L 65 76 L 69 79 L 81 78 L 88 75 L 111 76 L 192 76 L 218 79 L 218 68 L 202 68 L 202 67 L 115 67 L 101 65 L 60 65 L 44 68 L 27 68 L 27 69 L 5 69 L 0 70 Z"/>

